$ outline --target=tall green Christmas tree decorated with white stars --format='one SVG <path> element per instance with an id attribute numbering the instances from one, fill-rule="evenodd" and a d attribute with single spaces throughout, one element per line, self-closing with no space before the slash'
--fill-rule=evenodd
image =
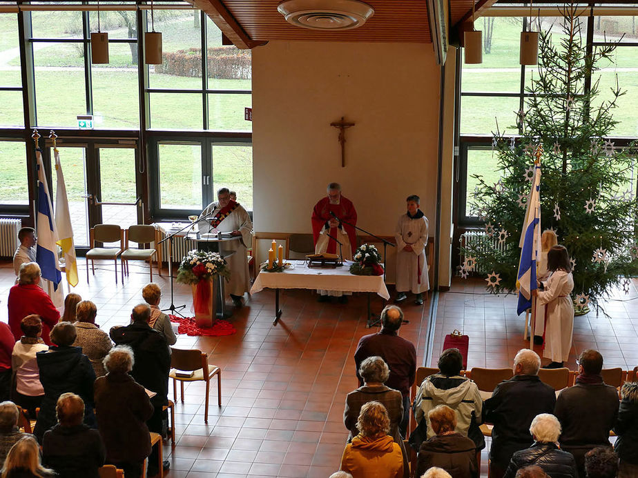
<path id="1" fill-rule="evenodd" d="M 612 88 L 608 100 L 597 99 L 596 72 L 615 45 L 593 46 L 588 55 L 581 21 L 570 8 L 563 11 L 561 32 L 558 45 L 551 30 L 540 34 L 538 74 L 513 126 L 519 135 L 494 133 L 501 178 L 488 184 L 474 176 L 479 186 L 472 207 L 487 234 L 461 248 L 461 275 L 467 277 L 476 261 L 481 270 L 493 271 L 486 279 L 492 292 L 516 289 L 525 201 L 534 152 L 541 146 L 541 227 L 555 230 L 566 246 L 574 269 L 573 297 L 586 305 L 605 297 L 611 286 L 628 287 L 626 278 L 638 273 L 638 207 L 631 181 L 637 148 L 618 148 L 610 140 L 621 88 Z"/>

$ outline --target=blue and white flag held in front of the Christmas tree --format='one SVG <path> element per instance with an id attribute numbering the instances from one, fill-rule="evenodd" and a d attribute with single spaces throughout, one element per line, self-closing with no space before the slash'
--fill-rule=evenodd
<path id="1" fill-rule="evenodd" d="M 537 289 L 536 263 L 541 248 L 541 165 L 534 167 L 532 189 L 528 197 L 528 210 L 521 230 L 521 259 L 519 273 L 516 275 L 516 287 L 519 288 L 519 305 L 516 311 L 520 314 L 532 307 L 532 290 Z"/>

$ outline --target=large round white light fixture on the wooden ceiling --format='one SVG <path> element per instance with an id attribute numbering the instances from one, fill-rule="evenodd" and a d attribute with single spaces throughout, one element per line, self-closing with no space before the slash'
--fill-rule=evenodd
<path id="1" fill-rule="evenodd" d="M 374 14 L 371 6 L 358 0 L 287 0 L 277 10 L 288 23 L 311 30 L 351 30 Z"/>

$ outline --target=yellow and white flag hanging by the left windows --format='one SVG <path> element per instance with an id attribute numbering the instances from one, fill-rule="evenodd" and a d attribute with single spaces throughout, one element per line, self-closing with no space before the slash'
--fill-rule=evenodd
<path id="1" fill-rule="evenodd" d="M 73 243 L 73 228 L 71 226 L 71 215 L 68 208 L 68 197 L 66 197 L 66 183 L 62 174 L 60 155 L 57 148 L 53 149 L 55 156 L 55 172 L 57 175 L 57 188 L 55 191 L 55 226 L 57 228 L 56 242 L 64 254 L 66 268 L 66 280 L 70 286 L 77 286 L 77 260 L 75 259 L 75 244 Z"/>

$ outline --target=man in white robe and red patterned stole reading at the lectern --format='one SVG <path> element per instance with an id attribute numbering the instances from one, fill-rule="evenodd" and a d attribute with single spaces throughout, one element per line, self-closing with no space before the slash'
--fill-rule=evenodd
<path id="1" fill-rule="evenodd" d="M 241 239 L 223 244 L 222 255 L 231 271 L 229 283 L 226 283 L 226 293 L 229 293 L 235 307 L 242 306 L 244 292 L 250 290 L 250 273 L 248 270 L 247 249 L 253 243 L 253 223 L 248 212 L 231 199 L 228 188 L 221 188 L 217 192 L 217 201 L 210 203 L 202 211 L 198 219 L 198 227 L 202 232 L 230 232 L 232 236 Z M 207 217 L 206 219 L 202 219 Z"/>

